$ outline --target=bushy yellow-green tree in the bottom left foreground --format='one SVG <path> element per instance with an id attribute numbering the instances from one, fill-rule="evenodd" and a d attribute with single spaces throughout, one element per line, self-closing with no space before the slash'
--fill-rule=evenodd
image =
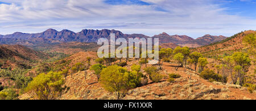
<path id="1" fill-rule="evenodd" d="M 27 86 L 26 92 L 39 100 L 60 99 L 64 88 L 61 72 L 48 72 L 39 74 Z"/>

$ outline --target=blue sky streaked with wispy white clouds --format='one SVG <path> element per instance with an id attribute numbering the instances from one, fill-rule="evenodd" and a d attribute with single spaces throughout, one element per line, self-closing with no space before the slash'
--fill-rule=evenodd
<path id="1" fill-rule="evenodd" d="M 0 0 L 0 35 L 48 28 L 232 36 L 256 29 L 256 0 Z"/>

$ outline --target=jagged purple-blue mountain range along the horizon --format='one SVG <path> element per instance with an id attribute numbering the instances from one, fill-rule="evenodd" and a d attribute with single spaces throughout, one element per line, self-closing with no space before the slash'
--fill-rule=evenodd
<path id="1" fill-rule="evenodd" d="M 0 35 L 0 43 L 1 44 L 19 44 L 19 45 L 38 45 L 38 44 L 56 44 L 63 42 L 97 42 L 100 38 L 110 39 L 110 33 L 115 33 L 115 37 L 123 37 L 125 39 L 128 38 L 148 38 L 149 36 L 142 34 L 124 34 L 121 31 L 116 31 L 114 29 L 102 29 L 102 30 L 94 30 L 94 29 L 83 29 L 81 32 L 73 32 L 68 29 L 63 29 L 62 31 L 56 31 L 55 29 L 47 29 L 41 33 L 22 33 L 15 32 L 11 35 Z M 155 35 L 153 37 L 159 38 L 160 44 L 165 43 L 174 43 L 180 46 L 189 46 L 189 47 L 198 47 L 202 45 L 209 45 L 213 42 L 218 42 L 226 39 L 224 36 L 211 36 L 205 35 L 203 37 L 199 37 L 198 39 L 193 39 L 192 37 L 185 35 L 173 35 L 170 36 L 167 33 L 161 33 L 159 35 Z"/>

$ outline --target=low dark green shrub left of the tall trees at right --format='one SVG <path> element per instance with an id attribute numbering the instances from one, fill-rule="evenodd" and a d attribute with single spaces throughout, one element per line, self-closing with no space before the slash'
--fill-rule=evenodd
<path id="1" fill-rule="evenodd" d="M 217 82 L 221 82 L 222 76 L 219 74 L 214 73 L 213 70 L 205 69 L 204 71 L 201 72 L 200 74 L 201 78 L 204 78 L 206 80 L 213 79 Z"/>

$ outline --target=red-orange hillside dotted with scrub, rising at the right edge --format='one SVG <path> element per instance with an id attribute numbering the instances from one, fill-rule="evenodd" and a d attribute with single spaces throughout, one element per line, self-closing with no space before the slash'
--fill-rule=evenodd
<path id="1" fill-rule="evenodd" d="M 209 64 L 207 65 L 207 67 L 213 70 L 217 70 L 214 66 L 221 63 L 222 57 L 231 56 L 234 52 L 249 54 L 251 59 L 251 66 L 249 67 L 249 71 L 247 71 L 247 79 L 250 79 L 250 82 L 255 84 L 255 48 L 251 49 L 250 45 L 243 42 L 243 38 L 250 33 L 256 33 L 256 31 L 250 30 L 240 32 L 232 37 L 229 37 L 228 39 L 222 40 L 220 42 L 215 42 L 211 45 L 201 46 L 192 50 L 200 52 L 204 54 L 205 57 L 209 58 Z"/>

